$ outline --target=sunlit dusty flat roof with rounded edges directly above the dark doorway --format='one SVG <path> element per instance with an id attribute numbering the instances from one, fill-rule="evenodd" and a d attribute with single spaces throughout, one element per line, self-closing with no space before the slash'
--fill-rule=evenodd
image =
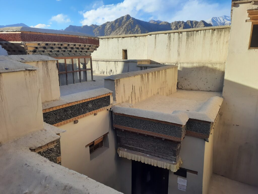
<path id="1" fill-rule="evenodd" d="M 132 111 L 136 111 L 138 112 L 137 114 L 143 115 L 142 117 L 150 118 L 150 116 L 147 117 L 148 112 L 146 111 L 152 111 L 153 119 L 160 121 L 163 121 L 162 119 L 167 117 L 167 119 L 169 119 L 167 120 L 168 122 L 178 124 L 186 123 L 189 118 L 214 122 L 223 101 L 223 98 L 220 96 L 220 92 L 178 89 L 177 92 L 169 96 L 154 95 L 146 100 L 131 105 L 131 108 L 124 109 L 123 114 L 134 115 L 135 113 Z M 119 106 L 125 105 L 122 104 Z M 144 114 L 146 116 L 144 116 Z M 186 121 L 185 117 L 187 117 Z"/>

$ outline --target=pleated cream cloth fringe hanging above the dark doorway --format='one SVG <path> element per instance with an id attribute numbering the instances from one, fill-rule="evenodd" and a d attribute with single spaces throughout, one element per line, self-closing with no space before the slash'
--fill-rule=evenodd
<path id="1" fill-rule="evenodd" d="M 150 156 L 148 154 L 127 150 L 122 147 L 118 147 L 117 153 L 120 157 L 127 158 L 129 160 L 143 162 L 160 168 L 166 168 L 168 170 L 171 170 L 172 172 L 176 172 L 183 163 L 181 158 L 176 163 L 162 158 L 157 158 L 155 156 Z"/>

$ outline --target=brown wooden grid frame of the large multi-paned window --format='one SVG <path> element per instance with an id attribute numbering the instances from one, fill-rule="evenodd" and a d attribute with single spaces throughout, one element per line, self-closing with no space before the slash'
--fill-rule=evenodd
<path id="1" fill-rule="evenodd" d="M 68 73 L 73 73 L 73 77 L 74 77 L 75 72 L 85 71 L 86 72 L 86 81 L 88 81 L 87 71 L 91 71 L 91 80 L 93 80 L 93 69 L 92 69 L 92 58 L 91 58 L 91 56 L 70 56 L 70 57 L 65 57 L 64 56 L 64 57 L 53 57 L 53 58 L 57 59 L 58 78 L 59 78 L 60 74 L 66 74 L 66 85 L 70 85 L 70 84 L 68 84 Z M 90 61 L 89 61 L 90 62 L 90 68 L 86 68 L 87 67 L 86 66 L 86 58 L 90 59 Z M 59 62 L 58 62 L 59 59 L 64 59 L 65 60 L 65 71 L 62 71 L 62 72 L 59 71 Z M 71 61 L 72 61 L 72 71 L 67 71 L 66 59 L 71 59 Z M 74 59 L 78 59 L 78 63 L 80 63 L 80 60 L 84 60 L 85 69 L 81 69 L 80 65 L 78 65 L 79 70 L 74 70 Z M 80 78 L 79 83 L 84 82 L 81 79 L 81 73 L 79 73 L 79 78 Z M 74 78 L 74 83 L 73 84 L 75 84 L 75 78 Z M 60 78 L 59 78 L 59 86 L 60 86 Z"/>

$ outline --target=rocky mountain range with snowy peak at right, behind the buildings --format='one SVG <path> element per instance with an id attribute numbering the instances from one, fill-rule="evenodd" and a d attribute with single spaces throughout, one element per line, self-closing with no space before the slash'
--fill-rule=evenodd
<path id="1" fill-rule="evenodd" d="M 160 20 L 150 20 L 142 21 L 135 19 L 130 15 L 125 15 L 120 18 L 117 18 L 114 21 L 108 21 L 102 25 L 92 24 L 90 26 L 73 26 L 70 25 L 65 28 L 65 31 L 80 32 L 89 34 L 92 36 L 110 36 L 110 35 L 122 35 L 122 34 L 142 34 L 148 32 L 156 31 L 167 31 L 167 30 L 177 30 L 177 29 L 187 29 L 187 28 L 199 28 L 199 27 L 208 27 L 208 26 L 220 26 L 220 25 L 230 25 L 230 17 L 221 16 L 213 17 L 209 20 L 187 20 L 187 21 L 174 21 L 172 23 Z M 14 27 L 14 26 L 26 26 L 23 23 L 12 24 L 2 27 Z"/>

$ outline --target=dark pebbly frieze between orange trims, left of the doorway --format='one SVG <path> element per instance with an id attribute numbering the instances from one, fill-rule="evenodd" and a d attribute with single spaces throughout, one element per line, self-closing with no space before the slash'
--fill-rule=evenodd
<path id="1" fill-rule="evenodd" d="M 110 96 L 104 96 L 102 98 L 43 113 L 43 120 L 53 125 L 109 105 Z"/>

